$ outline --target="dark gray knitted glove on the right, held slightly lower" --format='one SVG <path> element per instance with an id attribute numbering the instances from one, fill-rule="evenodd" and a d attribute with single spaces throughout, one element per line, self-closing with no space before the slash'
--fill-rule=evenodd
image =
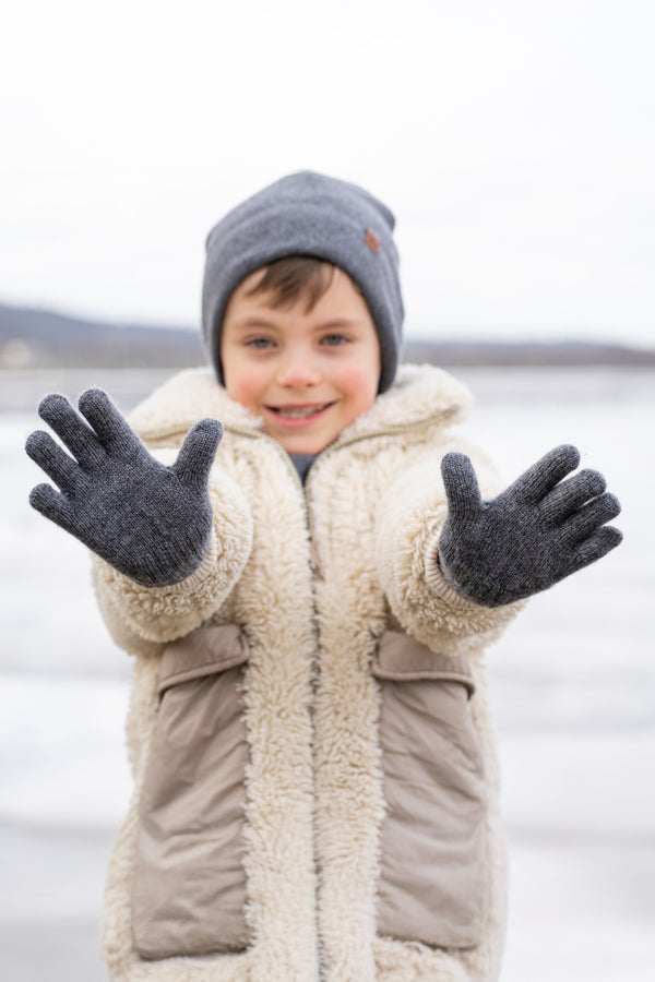
<path id="1" fill-rule="evenodd" d="M 574 446 L 558 446 L 507 491 L 483 501 L 464 454 L 446 454 L 441 474 L 448 515 L 439 565 L 449 585 L 481 607 L 501 607 L 545 590 L 600 559 L 623 538 L 602 527 L 621 506 L 596 470 L 581 470 Z"/>

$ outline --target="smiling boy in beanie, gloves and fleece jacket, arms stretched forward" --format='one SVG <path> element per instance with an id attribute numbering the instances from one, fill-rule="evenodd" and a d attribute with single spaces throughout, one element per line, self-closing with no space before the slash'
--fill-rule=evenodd
<path id="1" fill-rule="evenodd" d="M 39 407 L 79 463 L 33 434 L 61 493 L 32 503 L 96 553 L 135 656 L 114 980 L 498 978 L 483 651 L 618 544 L 619 505 L 595 471 L 567 478 L 567 446 L 493 496 L 452 431 L 463 386 L 395 378 L 393 224 L 352 184 L 276 182 L 207 239 L 216 378 L 174 378 L 134 429 L 98 391 L 91 428 L 61 396 Z"/>

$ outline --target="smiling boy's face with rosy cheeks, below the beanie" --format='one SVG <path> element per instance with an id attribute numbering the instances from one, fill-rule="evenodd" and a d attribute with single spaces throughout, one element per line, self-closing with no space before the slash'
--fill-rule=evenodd
<path id="1" fill-rule="evenodd" d="M 380 345 L 366 301 L 335 268 L 330 287 L 306 311 L 299 297 L 273 308 L 248 291 L 258 270 L 231 295 L 223 320 L 225 387 L 290 454 L 315 454 L 368 409 L 378 392 Z"/>

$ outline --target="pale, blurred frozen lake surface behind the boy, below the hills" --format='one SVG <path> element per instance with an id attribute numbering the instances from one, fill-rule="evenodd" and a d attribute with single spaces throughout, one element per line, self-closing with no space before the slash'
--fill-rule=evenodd
<path id="1" fill-rule="evenodd" d="M 467 370 L 508 480 L 576 444 L 626 541 L 534 598 L 489 654 L 511 852 L 503 982 L 655 979 L 655 373 Z M 129 662 L 86 553 L 27 505 L 40 395 L 130 408 L 165 373 L 0 373 L 0 978 L 99 982 L 104 871 L 129 794 Z"/>

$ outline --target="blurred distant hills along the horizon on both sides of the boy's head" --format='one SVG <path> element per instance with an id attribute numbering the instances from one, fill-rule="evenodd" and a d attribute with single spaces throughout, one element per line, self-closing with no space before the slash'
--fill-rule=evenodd
<path id="1" fill-rule="evenodd" d="M 571 342 L 409 340 L 406 361 L 445 367 L 640 366 L 655 349 Z M 0 368 L 184 368 L 204 364 L 200 332 L 103 323 L 0 304 Z"/>

